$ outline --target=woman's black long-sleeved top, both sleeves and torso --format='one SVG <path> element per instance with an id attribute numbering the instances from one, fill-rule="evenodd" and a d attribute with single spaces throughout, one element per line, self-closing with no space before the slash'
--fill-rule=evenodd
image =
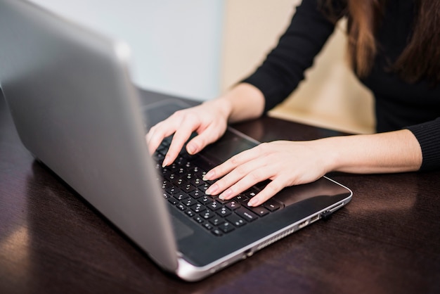
<path id="1" fill-rule="evenodd" d="M 426 80 L 404 82 L 389 65 L 405 48 L 412 28 L 413 0 L 388 1 L 377 32 L 378 53 L 368 77 L 361 79 L 374 94 L 377 132 L 409 129 L 422 148 L 420 170 L 440 169 L 440 85 Z M 243 82 L 257 87 L 265 111 L 282 102 L 304 78 L 325 41 L 335 29 L 318 8 L 318 0 L 303 0 L 287 31 L 264 63 Z M 438 32 L 433 32 L 438 33 Z M 440 62 L 440 60 L 432 60 Z"/>

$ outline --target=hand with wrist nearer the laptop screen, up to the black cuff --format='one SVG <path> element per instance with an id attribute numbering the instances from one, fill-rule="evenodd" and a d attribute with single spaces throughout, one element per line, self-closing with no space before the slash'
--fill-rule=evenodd
<path id="1" fill-rule="evenodd" d="M 259 89 L 251 84 L 238 84 L 219 98 L 179 110 L 167 120 L 156 124 L 146 136 L 148 151 L 153 154 L 164 138 L 174 134 L 162 163 L 165 167 L 174 162 L 193 132 L 198 135 L 186 144 L 189 154 L 198 153 L 219 139 L 226 131 L 228 122 L 259 117 L 263 108 L 264 96 Z"/>

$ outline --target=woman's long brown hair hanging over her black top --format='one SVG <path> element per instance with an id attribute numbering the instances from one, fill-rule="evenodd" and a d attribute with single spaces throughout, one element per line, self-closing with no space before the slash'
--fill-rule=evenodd
<path id="1" fill-rule="evenodd" d="M 348 17 L 348 53 L 356 74 L 365 77 L 377 53 L 375 32 L 383 18 L 387 0 L 345 0 Z M 395 1 L 395 0 L 391 0 Z M 335 20 L 334 0 L 325 0 L 325 13 Z M 440 1 L 415 0 L 413 30 L 408 44 L 390 70 L 410 83 L 428 79 L 440 82 Z"/>

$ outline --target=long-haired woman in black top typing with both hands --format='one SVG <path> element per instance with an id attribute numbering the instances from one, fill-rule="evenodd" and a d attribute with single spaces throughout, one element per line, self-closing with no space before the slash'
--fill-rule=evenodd
<path id="1" fill-rule="evenodd" d="M 226 125 L 266 113 L 303 79 L 343 15 L 348 53 L 361 82 L 373 91 L 377 134 L 314 141 L 273 141 L 207 172 L 206 191 L 230 199 L 259 181 L 269 184 L 249 202 L 257 206 L 285 186 L 315 181 L 331 171 L 414 172 L 440 167 L 440 1 L 303 0 L 278 46 L 250 77 L 224 96 L 181 110 L 150 129 L 153 153 L 174 134 L 163 165 L 186 149 L 195 154 L 224 134 Z"/>

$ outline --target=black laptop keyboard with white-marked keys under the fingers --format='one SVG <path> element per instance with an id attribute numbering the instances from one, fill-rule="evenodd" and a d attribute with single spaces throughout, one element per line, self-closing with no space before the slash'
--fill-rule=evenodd
<path id="1" fill-rule="evenodd" d="M 256 195 L 264 184 L 253 186 L 231 200 L 220 200 L 205 194 L 214 181 L 203 181 L 209 166 L 199 155 L 189 155 L 185 148 L 179 157 L 167 167 L 162 167 L 171 138 L 164 139 L 153 155 L 156 169 L 162 178 L 163 196 L 168 203 L 193 222 L 196 222 L 215 236 L 224 236 L 240 229 L 250 222 L 255 222 L 283 205 L 269 199 L 259 207 L 248 207 L 247 202 Z"/>

